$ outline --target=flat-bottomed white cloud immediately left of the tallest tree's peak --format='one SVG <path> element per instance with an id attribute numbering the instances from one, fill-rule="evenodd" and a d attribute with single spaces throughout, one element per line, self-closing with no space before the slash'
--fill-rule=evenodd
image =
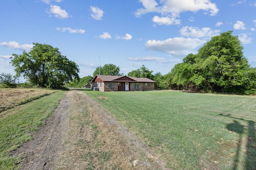
<path id="1" fill-rule="evenodd" d="M 212 30 L 209 27 L 204 27 L 199 29 L 198 27 L 182 27 L 180 33 L 183 36 L 193 37 L 193 38 L 210 38 L 216 36 L 220 33 L 220 30 Z"/>

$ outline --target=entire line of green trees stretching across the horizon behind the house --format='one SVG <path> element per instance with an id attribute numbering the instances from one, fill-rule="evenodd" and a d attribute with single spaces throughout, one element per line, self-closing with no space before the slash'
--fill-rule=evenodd
<path id="1" fill-rule="evenodd" d="M 30 84 L 47 88 L 82 88 L 97 75 L 124 76 L 119 66 L 98 66 L 92 76 L 80 78 L 79 68 L 51 45 L 33 43 L 29 53 L 12 55 L 16 75 L 0 74 L 0 83 L 13 86 L 23 75 Z M 256 94 L 256 68 L 250 67 L 243 55 L 238 36 L 232 31 L 214 36 L 197 54 L 188 54 L 182 63 L 176 64 L 168 74 L 152 74 L 142 65 L 127 76 L 149 78 L 156 81 L 156 89 L 194 90 L 232 94 Z M 9 83 L 9 84 L 8 84 Z"/>

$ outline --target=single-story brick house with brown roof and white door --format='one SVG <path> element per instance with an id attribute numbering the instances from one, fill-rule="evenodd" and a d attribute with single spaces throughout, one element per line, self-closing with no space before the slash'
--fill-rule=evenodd
<path id="1" fill-rule="evenodd" d="M 155 81 L 149 78 L 130 76 L 96 75 L 92 80 L 92 90 L 98 88 L 101 92 L 109 91 L 144 91 L 154 90 Z M 94 88 L 95 87 L 95 88 Z"/>

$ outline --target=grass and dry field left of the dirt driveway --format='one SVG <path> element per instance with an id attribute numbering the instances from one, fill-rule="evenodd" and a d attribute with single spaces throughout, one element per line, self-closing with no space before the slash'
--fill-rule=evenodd
<path id="1" fill-rule="evenodd" d="M 4 93 L 2 89 L 2 93 Z M 26 90 L 26 89 L 25 89 Z M 38 89 L 27 89 L 28 96 L 38 96 Z M 40 89 L 39 89 L 40 91 Z M 16 89 L 12 89 L 12 92 L 16 92 Z M 34 92 L 32 95 L 29 92 Z M 49 93 L 48 91 L 40 91 L 41 94 Z M 53 91 L 50 91 L 51 93 Z M 9 92 L 8 92 L 9 93 Z M 15 108 L 8 109 L 0 113 L 0 169 L 10 170 L 16 169 L 16 164 L 22 160 L 21 156 L 8 156 L 10 152 L 22 143 L 32 139 L 29 132 L 36 131 L 38 127 L 42 126 L 44 119 L 51 116 L 56 106 L 58 106 L 60 99 L 62 98 L 64 91 L 57 91 L 50 96 L 44 96 L 38 100 L 35 98 L 29 98 L 29 102 L 26 105 L 16 106 Z M 20 98 L 18 100 L 18 97 Z M 12 98 L 10 96 L 10 98 Z M 39 98 L 39 97 L 37 97 Z M 1 98 L 2 100 L 3 98 Z M 17 101 L 24 101 L 22 94 L 16 95 Z M 17 102 L 17 103 L 20 103 Z M 27 101 L 28 102 L 28 101 Z M 11 102 L 12 103 L 12 102 Z M 7 105 L 6 105 L 7 106 Z"/>

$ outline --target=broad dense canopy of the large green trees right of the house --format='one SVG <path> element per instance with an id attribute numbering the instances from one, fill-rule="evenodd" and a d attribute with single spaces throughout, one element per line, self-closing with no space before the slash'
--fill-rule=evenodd
<path id="1" fill-rule="evenodd" d="M 182 90 L 244 93 L 250 88 L 253 76 L 242 50 L 241 42 L 232 31 L 212 37 L 198 54 L 189 54 L 183 63 L 174 66 L 172 86 Z"/>

